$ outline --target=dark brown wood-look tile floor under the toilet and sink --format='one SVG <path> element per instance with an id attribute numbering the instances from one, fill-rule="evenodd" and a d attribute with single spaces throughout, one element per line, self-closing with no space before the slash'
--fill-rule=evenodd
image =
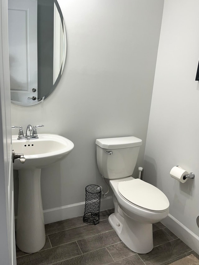
<path id="1" fill-rule="evenodd" d="M 153 225 L 154 249 L 137 254 L 128 249 L 108 222 L 113 209 L 100 212 L 96 226 L 82 216 L 45 225 L 46 243 L 39 252 L 27 254 L 16 247 L 17 265 L 167 265 L 194 254 L 162 223 Z"/>

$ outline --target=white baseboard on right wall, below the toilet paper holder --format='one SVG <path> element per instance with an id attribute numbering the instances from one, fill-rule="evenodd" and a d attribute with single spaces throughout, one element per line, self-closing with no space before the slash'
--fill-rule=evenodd
<path id="1" fill-rule="evenodd" d="M 196 234 L 170 214 L 161 222 L 199 255 L 199 237 Z"/>

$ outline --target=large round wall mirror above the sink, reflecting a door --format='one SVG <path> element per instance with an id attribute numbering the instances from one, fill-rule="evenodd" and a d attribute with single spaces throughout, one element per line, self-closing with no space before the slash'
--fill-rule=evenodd
<path id="1" fill-rule="evenodd" d="M 30 106 L 58 84 L 66 30 L 57 0 L 8 0 L 11 102 Z"/>

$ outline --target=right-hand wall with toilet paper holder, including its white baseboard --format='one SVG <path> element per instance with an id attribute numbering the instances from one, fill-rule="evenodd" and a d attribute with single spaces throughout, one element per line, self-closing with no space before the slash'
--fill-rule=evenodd
<path id="1" fill-rule="evenodd" d="M 144 179 L 170 202 L 167 226 L 199 253 L 199 1 L 165 0 L 145 151 Z M 169 176 L 179 165 L 196 178 Z"/>

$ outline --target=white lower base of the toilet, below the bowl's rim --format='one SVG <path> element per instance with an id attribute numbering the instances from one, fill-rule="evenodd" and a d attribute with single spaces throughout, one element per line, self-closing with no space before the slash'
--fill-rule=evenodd
<path id="1" fill-rule="evenodd" d="M 118 212 L 109 216 L 109 223 L 123 243 L 132 251 L 146 254 L 153 249 L 152 224 L 134 221 L 126 215 L 123 218 Z"/>

